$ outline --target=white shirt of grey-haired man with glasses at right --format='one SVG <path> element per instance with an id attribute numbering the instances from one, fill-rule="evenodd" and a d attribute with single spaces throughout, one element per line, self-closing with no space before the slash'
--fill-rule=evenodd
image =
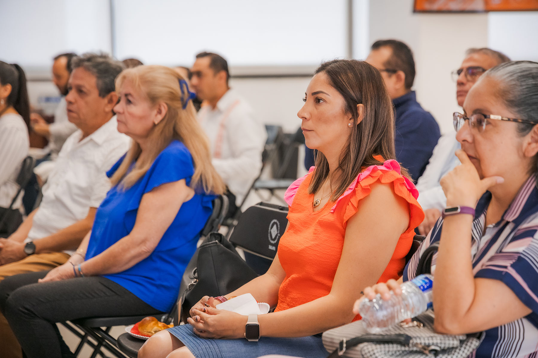
<path id="1" fill-rule="evenodd" d="M 455 133 L 445 134 L 439 138 L 426 170 L 416 183 L 416 189 L 419 191 L 417 201 L 422 209 L 435 208 L 442 211 L 447 207 L 447 197 L 444 196 L 439 182 L 445 174 L 461 164 L 455 154 L 460 148 Z"/>

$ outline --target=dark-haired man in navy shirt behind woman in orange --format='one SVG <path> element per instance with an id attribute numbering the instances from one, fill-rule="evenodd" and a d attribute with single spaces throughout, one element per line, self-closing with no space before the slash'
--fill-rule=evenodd
<path id="1" fill-rule="evenodd" d="M 416 182 L 424 172 L 441 132 L 433 116 L 424 111 L 411 90 L 415 61 L 410 48 L 397 40 L 373 43 L 366 62 L 381 72 L 396 111 L 396 158 Z"/>

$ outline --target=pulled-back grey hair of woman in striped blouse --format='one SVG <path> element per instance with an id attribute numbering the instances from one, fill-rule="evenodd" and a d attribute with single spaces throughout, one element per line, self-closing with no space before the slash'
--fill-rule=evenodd
<path id="1" fill-rule="evenodd" d="M 532 61 L 513 61 L 499 64 L 480 77 L 481 81 L 490 77 L 498 82 L 498 96 L 518 119 L 532 123 L 518 123 L 521 136 L 527 135 L 538 125 L 538 63 Z M 538 155 L 534 160 L 533 172 L 538 172 Z"/>

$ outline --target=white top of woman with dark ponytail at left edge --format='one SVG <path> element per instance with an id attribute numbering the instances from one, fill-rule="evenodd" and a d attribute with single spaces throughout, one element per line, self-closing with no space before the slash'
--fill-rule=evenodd
<path id="1" fill-rule="evenodd" d="M 0 207 L 7 208 L 17 194 L 20 165 L 28 155 L 30 140 L 22 116 L 6 113 L 0 116 Z M 20 208 L 22 195 L 13 205 Z"/>

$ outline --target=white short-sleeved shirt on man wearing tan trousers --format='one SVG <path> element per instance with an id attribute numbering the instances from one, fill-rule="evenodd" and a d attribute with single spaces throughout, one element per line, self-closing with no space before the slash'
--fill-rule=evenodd
<path id="1" fill-rule="evenodd" d="M 85 218 L 90 207 L 97 208 L 110 189 L 107 171 L 131 143 L 118 132 L 115 116 L 83 140 L 81 137 L 79 129 L 63 144 L 43 186 L 43 200 L 26 242 L 64 229 Z"/>

